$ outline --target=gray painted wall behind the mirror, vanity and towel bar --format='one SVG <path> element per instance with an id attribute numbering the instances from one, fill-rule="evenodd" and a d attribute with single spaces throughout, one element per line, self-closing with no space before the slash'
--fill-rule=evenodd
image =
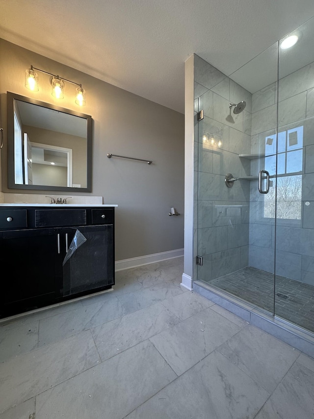
<path id="1" fill-rule="evenodd" d="M 86 106 L 81 108 L 75 104 L 72 84 L 65 83 L 62 101 L 54 99 L 50 77 L 42 73 L 39 73 L 40 90 L 27 90 L 24 73 L 30 65 L 81 83 L 86 89 Z M 1 192 L 25 193 L 7 188 L 6 92 L 11 91 L 92 115 L 91 195 L 103 196 L 104 203 L 119 205 L 116 209 L 116 260 L 183 248 L 183 114 L 2 39 L 0 74 L 1 121 L 5 129 Z M 118 158 L 109 160 L 107 153 L 150 159 L 153 164 Z M 47 191 L 41 193 L 47 195 Z M 171 207 L 182 216 L 169 217 Z"/>

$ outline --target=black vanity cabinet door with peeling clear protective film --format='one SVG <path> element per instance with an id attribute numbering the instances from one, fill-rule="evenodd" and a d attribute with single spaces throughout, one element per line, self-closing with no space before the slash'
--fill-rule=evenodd
<path id="1" fill-rule="evenodd" d="M 63 228 L 68 251 L 63 259 L 63 295 L 108 288 L 114 284 L 113 224 Z"/>

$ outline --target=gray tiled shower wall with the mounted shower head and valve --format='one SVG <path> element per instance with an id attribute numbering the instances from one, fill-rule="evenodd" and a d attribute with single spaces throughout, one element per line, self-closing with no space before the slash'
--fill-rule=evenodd
<path id="1" fill-rule="evenodd" d="M 227 188 L 225 176 L 249 174 L 250 162 L 239 154 L 250 153 L 252 95 L 199 56 L 194 59 L 194 249 L 203 256 L 194 278 L 210 281 L 248 265 L 250 182 Z M 230 112 L 229 103 L 242 100 L 245 110 Z M 204 119 L 197 122 L 199 110 Z"/>

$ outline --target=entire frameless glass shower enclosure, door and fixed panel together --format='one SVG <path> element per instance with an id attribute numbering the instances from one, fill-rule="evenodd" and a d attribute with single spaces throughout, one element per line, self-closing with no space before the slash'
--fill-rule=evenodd
<path id="1" fill-rule="evenodd" d="M 229 76 L 194 56 L 194 278 L 312 333 L 313 39 L 314 18 Z"/>

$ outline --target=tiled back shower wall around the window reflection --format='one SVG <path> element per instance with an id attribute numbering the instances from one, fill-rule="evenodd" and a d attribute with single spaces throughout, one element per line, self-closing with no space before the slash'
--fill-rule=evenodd
<path id="1" fill-rule="evenodd" d="M 265 138 L 275 133 L 277 86 L 252 97 L 251 153 L 264 152 Z M 314 63 L 279 82 L 278 131 L 303 125 L 301 220 L 277 220 L 276 274 L 314 285 Z M 263 161 L 260 162 L 260 165 Z M 252 161 L 252 171 L 262 168 Z M 255 166 L 254 166 L 255 165 Z M 251 173 L 254 174 L 254 173 Z M 274 219 L 263 219 L 263 196 L 251 181 L 249 265 L 273 272 Z M 273 184 L 275 187 L 275 183 Z"/>

